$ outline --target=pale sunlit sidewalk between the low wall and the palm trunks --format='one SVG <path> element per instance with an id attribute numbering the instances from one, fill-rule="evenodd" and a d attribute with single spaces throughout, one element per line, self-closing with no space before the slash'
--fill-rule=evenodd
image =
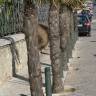
<path id="1" fill-rule="evenodd" d="M 46 52 L 49 53 L 48 49 L 46 49 Z M 42 54 L 40 57 L 42 63 L 47 63 L 48 66 L 50 66 L 51 63 L 49 55 Z M 45 83 L 44 69 L 46 66 L 47 65 L 42 65 L 41 67 L 43 83 Z M 21 94 L 30 96 L 27 67 L 18 72 L 17 77 L 12 77 L 11 80 L 5 82 L 3 85 L 0 85 L 0 96 L 22 96 Z"/>

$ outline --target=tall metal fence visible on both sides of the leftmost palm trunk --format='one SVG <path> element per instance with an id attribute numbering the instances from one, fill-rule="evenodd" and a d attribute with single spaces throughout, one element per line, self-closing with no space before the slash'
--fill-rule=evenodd
<path id="1" fill-rule="evenodd" d="M 48 4 L 41 5 L 38 9 L 39 23 L 48 25 Z M 23 12 L 23 0 L 0 2 L 0 37 L 22 31 Z"/>

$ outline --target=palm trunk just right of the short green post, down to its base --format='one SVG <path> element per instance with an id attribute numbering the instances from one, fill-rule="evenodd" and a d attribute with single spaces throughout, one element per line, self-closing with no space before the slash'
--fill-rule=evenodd
<path id="1" fill-rule="evenodd" d="M 52 4 L 49 9 L 49 40 L 50 58 L 53 73 L 53 93 L 64 91 L 64 85 L 60 74 L 60 34 L 59 34 L 59 7 Z"/>

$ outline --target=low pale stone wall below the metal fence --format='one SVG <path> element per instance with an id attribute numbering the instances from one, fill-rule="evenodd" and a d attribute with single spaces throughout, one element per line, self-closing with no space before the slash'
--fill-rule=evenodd
<path id="1" fill-rule="evenodd" d="M 0 39 L 0 84 L 3 84 L 6 80 L 12 78 L 13 71 L 21 71 L 27 66 L 27 48 L 24 34 L 15 34 L 8 36 L 13 38 L 16 49 L 19 53 L 20 62 L 14 63 L 12 57 L 12 44 L 9 40 Z"/>

